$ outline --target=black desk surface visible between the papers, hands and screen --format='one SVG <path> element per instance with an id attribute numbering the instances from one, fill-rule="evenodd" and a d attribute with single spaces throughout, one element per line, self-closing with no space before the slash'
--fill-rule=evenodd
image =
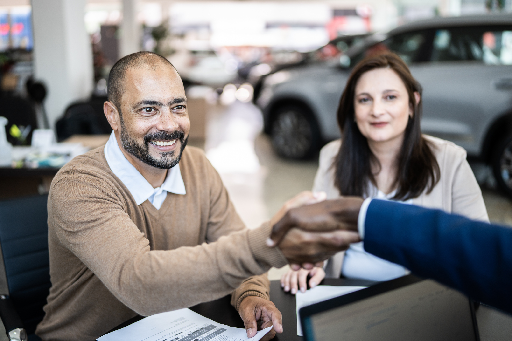
<path id="1" fill-rule="evenodd" d="M 322 281 L 321 285 L 349 285 L 349 286 L 370 286 L 378 282 L 364 281 L 364 280 L 351 280 L 351 279 L 333 279 L 326 278 Z M 297 315 L 295 305 L 295 295 L 286 293 L 281 289 L 279 281 L 270 282 L 270 300 L 274 302 L 275 306 L 283 314 L 283 333 L 276 335 L 273 339 L 275 341 L 297 341 L 302 340 L 302 336 L 297 336 Z M 240 318 L 237 310 L 231 306 L 231 295 L 227 295 L 221 299 L 200 303 L 190 310 L 197 312 L 208 319 L 215 322 L 222 323 L 231 327 L 244 328 L 244 323 Z M 120 324 L 111 331 L 126 327 L 136 321 L 142 319 L 141 316 L 134 317 L 133 319 Z"/>

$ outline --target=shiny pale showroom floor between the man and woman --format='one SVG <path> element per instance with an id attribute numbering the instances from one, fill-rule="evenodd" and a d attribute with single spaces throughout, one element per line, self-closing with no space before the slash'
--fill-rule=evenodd
<path id="1" fill-rule="evenodd" d="M 311 190 L 317 160 L 289 161 L 275 155 L 261 133 L 260 110 L 250 103 L 210 106 L 206 155 L 221 174 L 237 212 L 249 228 L 268 220 L 295 194 Z M 512 201 L 496 190 L 483 188 L 489 218 L 512 225 Z M 286 271 L 271 269 L 270 279 Z"/>

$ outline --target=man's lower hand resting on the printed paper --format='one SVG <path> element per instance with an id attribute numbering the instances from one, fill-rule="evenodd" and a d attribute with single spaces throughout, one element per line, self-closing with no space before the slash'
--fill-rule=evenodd
<path id="1" fill-rule="evenodd" d="M 253 337 L 258 330 L 265 329 L 270 326 L 268 333 L 261 338 L 262 341 L 268 341 L 275 336 L 275 333 L 283 332 L 283 316 L 278 308 L 264 298 L 258 296 L 247 296 L 238 309 L 240 317 L 244 320 L 247 337 Z"/>

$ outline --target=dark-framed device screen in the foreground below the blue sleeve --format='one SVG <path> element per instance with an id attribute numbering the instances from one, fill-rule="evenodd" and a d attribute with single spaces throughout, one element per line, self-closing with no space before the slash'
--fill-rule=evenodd
<path id="1" fill-rule="evenodd" d="M 307 341 L 479 341 L 473 303 L 413 275 L 300 309 Z"/>

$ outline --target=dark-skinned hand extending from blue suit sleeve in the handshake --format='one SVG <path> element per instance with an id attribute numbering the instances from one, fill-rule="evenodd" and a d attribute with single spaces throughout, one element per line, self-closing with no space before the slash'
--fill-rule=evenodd
<path id="1" fill-rule="evenodd" d="M 267 240 L 267 244 L 270 247 L 279 244 L 281 247 L 284 236 L 292 228 L 309 232 L 333 231 L 331 233 L 335 233 L 335 230 L 346 230 L 346 233 L 348 233 L 348 231 L 357 232 L 357 216 L 362 201 L 363 199 L 360 197 L 344 197 L 342 199 L 326 200 L 309 206 L 291 209 L 280 221 L 274 224 L 272 234 Z M 325 238 L 327 238 L 327 236 L 328 235 L 325 235 Z M 344 239 L 347 238 L 353 239 L 347 234 L 338 234 L 336 236 L 340 238 L 339 241 L 344 241 Z M 314 237 L 311 235 L 310 238 Z M 329 245 L 329 243 L 325 244 L 326 246 Z M 283 248 L 281 247 L 281 249 Z M 306 255 L 306 251 L 308 250 L 304 249 L 303 251 Z M 325 252 L 331 251 L 331 249 L 325 250 Z M 309 254 L 311 255 L 311 252 L 309 252 Z"/>

